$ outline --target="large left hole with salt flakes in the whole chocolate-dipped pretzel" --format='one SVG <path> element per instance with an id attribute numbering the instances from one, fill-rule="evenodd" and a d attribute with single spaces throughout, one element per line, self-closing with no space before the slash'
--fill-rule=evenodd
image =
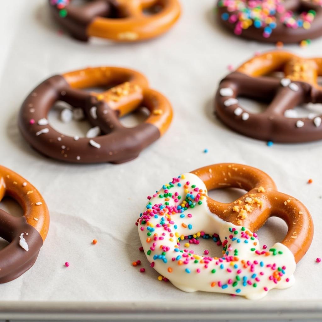
<path id="1" fill-rule="evenodd" d="M 72 113 L 74 107 L 64 101 L 57 101 L 50 109 L 48 113 L 48 121 L 52 128 L 63 135 L 71 137 L 86 137 L 86 134 L 92 128 L 87 118 L 76 120 L 72 117 L 69 122 L 65 123 L 62 121 L 62 113 L 64 109 L 68 109 Z"/>

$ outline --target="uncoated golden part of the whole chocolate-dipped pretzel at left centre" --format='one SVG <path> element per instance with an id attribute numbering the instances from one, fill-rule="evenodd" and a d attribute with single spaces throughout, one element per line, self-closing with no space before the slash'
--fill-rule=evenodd
<path id="1" fill-rule="evenodd" d="M 143 104 L 151 113 L 145 123 L 156 126 L 161 136 L 170 126 L 173 115 L 171 104 L 161 93 L 151 90 L 147 78 L 137 71 L 118 67 L 96 67 L 72 71 L 62 76 L 75 89 L 115 85 L 102 93 L 91 94 L 104 100 L 111 109 L 117 110 L 120 117 Z"/>

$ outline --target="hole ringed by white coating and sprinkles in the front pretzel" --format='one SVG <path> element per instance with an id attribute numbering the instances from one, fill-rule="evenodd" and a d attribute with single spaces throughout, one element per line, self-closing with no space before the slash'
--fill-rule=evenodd
<path id="1" fill-rule="evenodd" d="M 188 250 L 189 252 L 193 251 L 194 254 L 198 254 L 200 256 L 210 256 L 210 257 L 222 257 L 223 256 L 223 246 L 217 234 L 208 235 L 204 234 L 204 236 L 194 238 L 192 235 L 185 236 L 189 238 L 185 238 L 179 242 L 180 250 Z M 189 247 L 185 247 L 184 245 L 188 243 Z M 208 250 L 209 253 L 205 254 L 204 251 Z"/>

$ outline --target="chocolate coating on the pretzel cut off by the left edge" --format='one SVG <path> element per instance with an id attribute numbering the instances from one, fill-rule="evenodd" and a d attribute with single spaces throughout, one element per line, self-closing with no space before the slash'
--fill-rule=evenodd
<path id="1" fill-rule="evenodd" d="M 20 234 L 29 250 L 20 245 Z M 43 239 L 39 232 L 26 222 L 24 216 L 16 218 L 0 209 L 0 236 L 10 244 L 0 251 L 0 283 L 9 282 L 29 270 L 37 259 Z"/>

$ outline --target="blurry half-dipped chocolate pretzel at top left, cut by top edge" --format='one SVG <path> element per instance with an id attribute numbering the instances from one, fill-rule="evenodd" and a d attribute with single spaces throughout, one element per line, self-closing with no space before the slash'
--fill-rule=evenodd
<path id="1" fill-rule="evenodd" d="M 70 0 L 49 0 L 52 16 L 73 37 L 88 41 L 101 37 L 134 42 L 167 32 L 178 20 L 178 0 L 90 0 L 74 6 Z M 145 14 L 145 10 L 158 9 Z"/>

